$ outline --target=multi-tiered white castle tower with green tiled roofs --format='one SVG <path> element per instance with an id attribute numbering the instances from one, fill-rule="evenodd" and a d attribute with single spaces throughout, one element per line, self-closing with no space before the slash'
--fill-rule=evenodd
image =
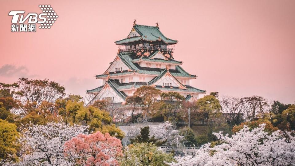
<path id="1" fill-rule="evenodd" d="M 157 26 L 137 25 L 134 21 L 127 38 L 115 41 L 118 52 L 108 69 L 96 79 L 103 85 L 87 90 L 95 94 L 95 100 L 124 103 L 137 88 L 148 85 L 162 92 L 178 92 L 187 101 L 194 101 L 206 91 L 190 86 L 195 75 L 187 73 L 182 61 L 174 59 L 173 51 L 177 40 L 165 37 Z"/>

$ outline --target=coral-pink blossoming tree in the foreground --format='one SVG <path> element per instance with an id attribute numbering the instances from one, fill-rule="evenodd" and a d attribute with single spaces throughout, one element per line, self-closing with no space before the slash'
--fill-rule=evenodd
<path id="1" fill-rule="evenodd" d="M 74 165 L 119 165 L 117 158 L 122 156 L 121 141 L 108 133 L 79 134 L 64 145 L 65 158 Z"/>

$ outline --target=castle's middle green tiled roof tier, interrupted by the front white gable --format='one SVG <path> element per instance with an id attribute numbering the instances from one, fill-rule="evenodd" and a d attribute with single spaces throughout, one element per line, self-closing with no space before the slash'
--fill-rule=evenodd
<path id="1" fill-rule="evenodd" d="M 127 65 L 131 70 L 134 70 L 136 73 L 140 74 L 151 74 L 151 75 L 159 75 L 161 74 L 162 71 L 165 69 L 157 69 L 157 68 L 144 68 L 140 67 L 137 63 L 132 63 L 132 60 L 134 57 L 132 53 L 128 52 L 120 52 L 118 56 L 122 59 L 125 65 Z M 183 70 L 179 65 L 176 65 L 175 70 L 170 69 L 169 72 L 174 76 L 174 77 L 188 77 L 188 78 L 195 78 L 195 75 L 190 75 L 186 71 Z M 130 74 L 133 73 L 132 71 L 128 72 L 123 71 L 122 73 L 110 73 L 110 76 L 118 76 L 118 75 L 125 75 L 125 74 Z M 96 75 L 96 78 L 101 78 L 101 77 L 107 77 L 107 74 L 101 74 L 101 75 Z"/>

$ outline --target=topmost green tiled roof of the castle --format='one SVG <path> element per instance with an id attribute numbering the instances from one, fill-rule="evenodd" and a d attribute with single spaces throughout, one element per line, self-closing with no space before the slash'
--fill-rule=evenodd
<path id="1" fill-rule="evenodd" d="M 140 39 L 146 40 L 146 41 L 157 41 L 162 40 L 165 43 L 169 44 L 176 44 L 177 40 L 172 40 L 169 38 L 166 38 L 162 32 L 159 30 L 159 27 L 157 26 L 145 26 L 145 25 L 135 25 L 133 26 L 134 29 L 138 34 L 140 34 L 140 37 L 134 37 L 134 38 L 125 38 L 119 41 L 115 41 L 116 44 L 124 44 L 132 41 L 138 41 Z"/>

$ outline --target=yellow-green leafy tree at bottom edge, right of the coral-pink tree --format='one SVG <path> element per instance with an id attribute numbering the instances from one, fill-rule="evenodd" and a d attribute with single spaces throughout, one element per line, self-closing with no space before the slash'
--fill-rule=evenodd
<path id="1" fill-rule="evenodd" d="M 167 154 L 151 143 L 130 144 L 123 151 L 121 166 L 167 166 L 175 161 L 173 154 Z"/>

